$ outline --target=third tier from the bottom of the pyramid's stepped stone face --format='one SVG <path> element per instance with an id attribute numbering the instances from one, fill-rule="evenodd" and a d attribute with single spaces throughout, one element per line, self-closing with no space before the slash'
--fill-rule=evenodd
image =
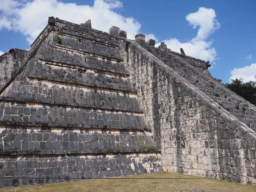
<path id="1" fill-rule="evenodd" d="M 0 111 L 3 125 L 144 129 L 143 113 L 130 111 L 9 100 L 2 100 Z"/>

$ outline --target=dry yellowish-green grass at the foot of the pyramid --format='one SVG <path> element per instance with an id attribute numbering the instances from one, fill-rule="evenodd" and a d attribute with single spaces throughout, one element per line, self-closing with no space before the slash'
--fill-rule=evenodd
<path id="1" fill-rule="evenodd" d="M 132 175 L 110 179 L 24 186 L 0 192 L 256 192 L 256 186 L 176 173 Z"/>

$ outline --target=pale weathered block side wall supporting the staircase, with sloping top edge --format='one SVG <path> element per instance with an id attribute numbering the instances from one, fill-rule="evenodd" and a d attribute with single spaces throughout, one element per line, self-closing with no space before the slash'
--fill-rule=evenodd
<path id="1" fill-rule="evenodd" d="M 122 51 L 166 170 L 256 183 L 252 129 L 139 44 L 126 41 Z"/>

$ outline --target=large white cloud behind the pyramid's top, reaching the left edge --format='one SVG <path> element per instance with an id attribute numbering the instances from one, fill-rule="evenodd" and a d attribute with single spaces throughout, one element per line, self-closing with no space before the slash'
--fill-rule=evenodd
<path id="1" fill-rule="evenodd" d="M 62 3 L 60 0 L 8 0 L 7 3 L 0 0 L 0 4 L 0 29 L 22 32 L 29 43 L 47 25 L 49 16 L 78 24 L 90 19 L 94 29 L 105 32 L 113 25 L 118 26 L 130 39 L 134 39 L 141 27 L 133 17 L 114 12 L 114 9 L 122 8 L 119 0 L 94 0 L 93 6 Z"/>

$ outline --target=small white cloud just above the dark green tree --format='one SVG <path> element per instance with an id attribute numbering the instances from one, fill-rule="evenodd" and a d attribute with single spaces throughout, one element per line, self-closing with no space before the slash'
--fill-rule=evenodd
<path id="1" fill-rule="evenodd" d="M 250 66 L 245 66 L 241 68 L 235 68 L 231 71 L 231 79 L 241 78 L 244 82 L 247 81 L 256 81 L 254 78 L 256 76 L 256 63 L 251 64 Z"/>

